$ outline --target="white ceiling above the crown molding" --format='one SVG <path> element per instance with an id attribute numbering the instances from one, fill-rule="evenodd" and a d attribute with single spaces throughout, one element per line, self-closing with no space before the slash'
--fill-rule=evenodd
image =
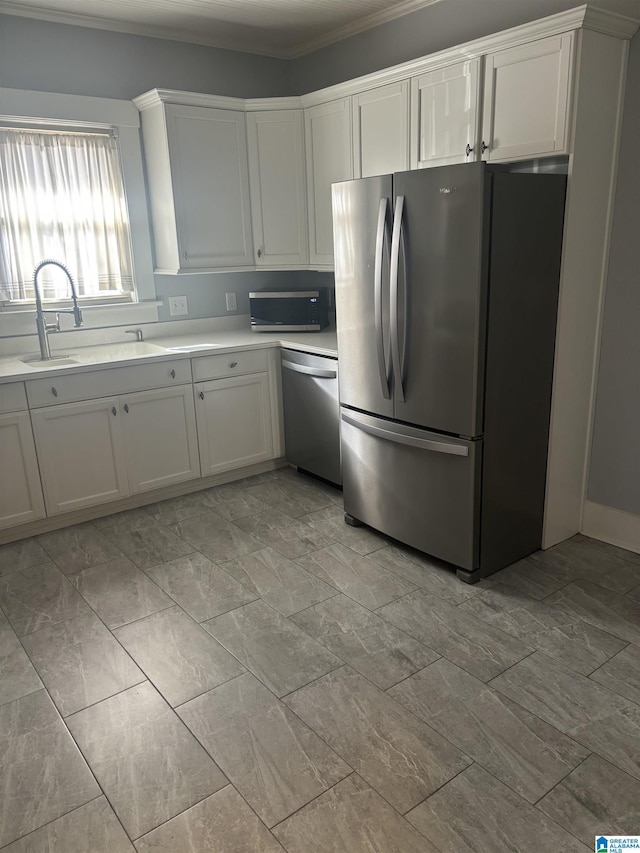
<path id="1" fill-rule="evenodd" d="M 0 0 L 0 12 L 291 59 L 439 2 Z"/>

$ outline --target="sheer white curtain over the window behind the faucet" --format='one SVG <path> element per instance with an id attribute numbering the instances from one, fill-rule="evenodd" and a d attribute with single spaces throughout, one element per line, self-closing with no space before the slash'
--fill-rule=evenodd
<path id="1" fill-rule="evenodd" d="M 129 222 L 117 141 L 108 134 L 0 128 L 0 300 L 33 299 L 33 271 L 64 263 L 81 296 L 133 290 Z M 66 298 L 56 267 L 44 298 Z"/>

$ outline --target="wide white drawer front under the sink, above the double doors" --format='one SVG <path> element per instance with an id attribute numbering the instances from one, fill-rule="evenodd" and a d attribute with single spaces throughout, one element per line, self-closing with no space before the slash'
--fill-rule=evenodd
<path id="1" fill-rule="evenodd" d="M 191 365 L 188 358 L 65 374 L 52 376 L 50 379 L 31 379 L 25 384 L 29 405 L 31 408 L 37 408 L 111 397 L 128 391 L 163 388 L 185 382 L 191 382 Z"/>

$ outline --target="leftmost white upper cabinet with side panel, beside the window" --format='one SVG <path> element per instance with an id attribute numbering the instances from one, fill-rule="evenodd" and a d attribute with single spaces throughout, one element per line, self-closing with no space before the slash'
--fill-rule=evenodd
<path id="1" fill-rule="evenodd" d="M 142 114 L 156 271 L 253 265 L 243 111 L 136 99 Z"/>

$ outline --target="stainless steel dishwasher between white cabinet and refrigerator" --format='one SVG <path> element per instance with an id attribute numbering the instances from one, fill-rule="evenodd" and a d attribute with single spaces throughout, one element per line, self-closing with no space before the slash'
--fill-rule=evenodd
<path id="1" fill-rule="evenodd" d="M 338 360 L 289 349 L 280 359 L 285 458 L 341 485 Z"/>

